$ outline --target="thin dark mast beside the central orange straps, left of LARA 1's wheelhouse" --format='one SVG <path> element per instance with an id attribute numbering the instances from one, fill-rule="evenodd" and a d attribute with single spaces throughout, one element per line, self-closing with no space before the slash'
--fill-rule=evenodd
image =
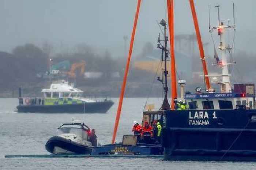
<path id="1" fill-rule="evenodd" d="M 169 110 L 170 105 L 169 105 L 169 102 L 168 102 L 168 99 L 167 99 L 167 92 L 168 92 L 167 75 L 168 75 L 168 71 L 166 69 L 166 61 L 167 61 L 167 58 L 169 57 L 168 56 L 168 49 L 167 49 L 168 37 L 166 36 L 166 22 L 165 22 L 165 20 L 162 19 L 159 24 L 161 24 L 161 26 L 163 26 L 164 39 L 161 40 L 160 35 L 159 35 L 159 38 L 158 38 L 158 41 L 157 41 L 157 48 L 162 50 L 162 61 L 164 61 L 165 68 L 162 70 L 162 78 L 160 79 L 160 77 L 157 77 L 157 80 L 160 81 L 163 84 L 163 91 L 165 92 L 165 97 L 163 99 L 161 109 L 162 110 Z M 164 44 L 162 45 L 161 42 L 164 42 Z"/>

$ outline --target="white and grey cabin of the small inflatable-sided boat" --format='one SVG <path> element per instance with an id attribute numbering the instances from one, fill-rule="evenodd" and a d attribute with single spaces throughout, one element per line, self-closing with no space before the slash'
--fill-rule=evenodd
<path id="1" fill-rule="evenodd" d="M 58 130 L 58 136 L 66 139 L 91 144 L 90 128 L 80 122 L 68 123 L 61 125 Z"/>

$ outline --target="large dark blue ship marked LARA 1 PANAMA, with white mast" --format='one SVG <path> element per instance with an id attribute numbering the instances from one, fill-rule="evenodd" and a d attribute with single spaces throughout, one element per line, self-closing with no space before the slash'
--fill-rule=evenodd
<path id="1" fill-rule="evenodd" d="M 216 8 L 219 12 L 219 6 Z M 233 43 L 230 45 L 224 41 L 229 29 L 235 31 L 235 24 L 231 26 L 229 21 L 224 24 L 219 20 L 217 27 L 210 27 L 209 21 L 210 33 L 217 30 L 221 40 L 219 51 L 222 58 L 215 53 L 214 65 L 221 68 L 222 74 L 208 75 L 204 69 L 207 91 L 202 92 L 197 88 L 194 94 L 187 92 L 184 99 L 189 106 L 187 110 L 163 111 L 165 128 L 162 131 L 162 146 L 165 160 L 256 161 L 255 85 L 231 86 L 228 66 L 234 63 L 227 62 L 227 55 Z M 220 85 L 219 92 L 211 88 L 210 76 L 216 77 L 212 82 Z"/>

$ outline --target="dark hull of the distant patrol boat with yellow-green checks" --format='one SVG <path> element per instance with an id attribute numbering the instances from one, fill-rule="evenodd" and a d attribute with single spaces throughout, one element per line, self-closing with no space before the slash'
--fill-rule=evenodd
<path id="1" fill-rule="evenodd" d="M 114 104 L 113 101 L 79 103 L 70 105 L 19 105 L 21 113 L 106 113 Z"/>

